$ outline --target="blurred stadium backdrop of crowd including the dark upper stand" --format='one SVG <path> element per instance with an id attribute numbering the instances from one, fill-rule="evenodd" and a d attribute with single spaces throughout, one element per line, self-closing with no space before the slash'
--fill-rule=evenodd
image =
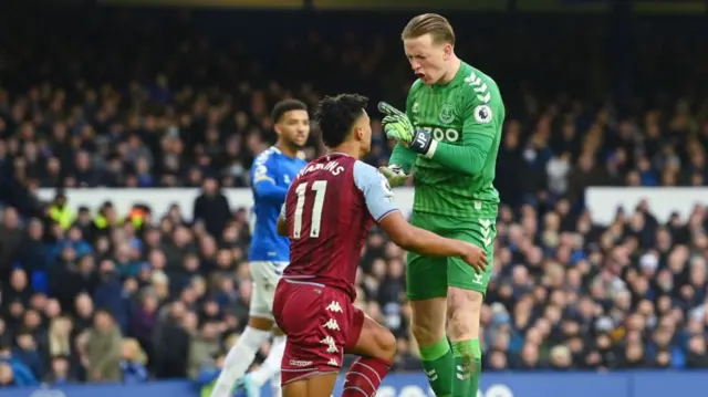
<path id="1" fill-rule="evenodd" d="M 249 186 L 281 98 L 403 104 L 409 15 L 33 12 L 0 13 L 0 387 L 211 379 L 251 296 L 249 209 L 220 189 Z M 583 198 L 706 186 L 705 21 L 450 17 L 508 106 L 487 370 L 708 368 L 708 209 L 664 223 L 643 203 L 597 224 Z M 383 165 L 373 124 L 366 160 Z M 92 187 L 202 194 L 194 219 L 149 202 L 74 211 L 62 194 Z M 357 305 L 397 335 L 396 370 L 418 370 L 404 265 L 374 231 Z"/>

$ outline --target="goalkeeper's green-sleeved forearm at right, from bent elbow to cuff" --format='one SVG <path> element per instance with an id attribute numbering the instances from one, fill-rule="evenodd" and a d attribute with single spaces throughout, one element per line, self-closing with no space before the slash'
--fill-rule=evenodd
<path id="1" fill-rule="evenodd" d="M 428 154 L 428 157 L 455 171 L 476 175 L 485 168 L 492 142 L 491 136 L 481 134 L 465 139 L 464 146 L 436 142 L 431 146 L 433 154 Z"/>

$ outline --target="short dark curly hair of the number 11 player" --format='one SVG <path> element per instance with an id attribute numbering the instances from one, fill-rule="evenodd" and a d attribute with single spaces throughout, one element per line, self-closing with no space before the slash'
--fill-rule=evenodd
<path id="1" fill-rule="evenodd" d="M 368 98 L 358 94 L 325 96 L 320 101 L 314 118 L 320 125 L 322 140 L 335 147 L 346 140 L 354 122 L 362 116 Z"/>

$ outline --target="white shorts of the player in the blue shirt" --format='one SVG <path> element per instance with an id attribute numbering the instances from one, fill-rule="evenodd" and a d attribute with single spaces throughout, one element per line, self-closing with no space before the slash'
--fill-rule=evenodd
<path id="1" fill-rule="evenodd" d="M 275 286 L 283 274 L 288 262 L 256 261 L 250 262 L 253 292 L 251 294 L 251 317 L 273 320 L 273 296 Z"/>

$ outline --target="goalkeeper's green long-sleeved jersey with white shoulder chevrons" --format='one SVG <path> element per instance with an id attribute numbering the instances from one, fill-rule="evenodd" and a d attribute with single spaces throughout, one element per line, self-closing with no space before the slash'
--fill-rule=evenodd
<path id="1" fill-rule="evenodd" d="M 409 173 L 415 165 L 414 211 L 465 219 L 496 217 L 493 186 L 504 105 L 497 83 L 462 62 L 445 85 L 416 81 L 406 114 L 416 129 L 438 142 L 435 153 L 418 156 L 396 145 L 389 164 Z"/>

